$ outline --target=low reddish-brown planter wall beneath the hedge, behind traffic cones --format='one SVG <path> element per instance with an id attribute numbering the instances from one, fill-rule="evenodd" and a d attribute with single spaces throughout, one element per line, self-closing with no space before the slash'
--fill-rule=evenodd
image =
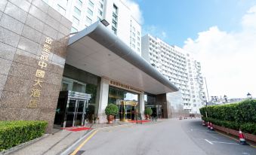
<path id="1" fill-rule="evenodd" d="M 229 129 L 229 128 L 225 128 L 224 126 L 217 126 L 215 124 L 213 124 L 213 127 L 214 127 L 214 129 L 220 130 L 222 132 L 226 132 L 227 134 L 239 136 L 239 131 L 237 131 L 235 129 Z M 243 132 L 243 135 L 245 135 L 246 140 L 256 142 L 256 135 L 252 135 L 252 134 L 245 133 L 245 132 Z"/>

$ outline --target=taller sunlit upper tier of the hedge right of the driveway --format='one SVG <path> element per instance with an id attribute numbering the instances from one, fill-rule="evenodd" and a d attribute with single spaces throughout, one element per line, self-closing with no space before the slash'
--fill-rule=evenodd
<path id="1" fill-rule="evenodd" d="M 200 113 L 217 120 L 234 121 L 237 123 L 256 123 L 256 100 L 245 100 L 230 105 L 211 105 L 200 108 Z"/>

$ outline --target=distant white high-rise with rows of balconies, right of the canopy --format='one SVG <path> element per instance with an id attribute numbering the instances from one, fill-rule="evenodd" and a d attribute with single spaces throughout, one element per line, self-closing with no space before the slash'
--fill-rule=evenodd
<path id="1" fill-rule="evenodd" d="M 152 35 L 144 35 L 141 42 L 141 56 L 179 88 L 184 109 L 199 114 L 205 104 L 200 62 L 191 53 Z"/>

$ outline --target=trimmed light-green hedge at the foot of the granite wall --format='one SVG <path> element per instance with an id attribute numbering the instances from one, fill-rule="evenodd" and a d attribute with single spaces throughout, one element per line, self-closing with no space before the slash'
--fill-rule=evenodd
<path id="1" fill-rule="evenodd" d="M 0 151 L 42 136 L 47 126 L 42 120 L 0 121 Z"/>

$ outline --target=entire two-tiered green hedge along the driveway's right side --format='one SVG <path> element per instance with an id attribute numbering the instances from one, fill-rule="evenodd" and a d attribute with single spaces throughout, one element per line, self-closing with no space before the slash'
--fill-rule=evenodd
<path id="1" fill-rule="evenodd" d="M 204 116 L 202 120 L 256 135 L 256 100 L 250 99 L 230 105 L 211 105 L 200 108 L 200 113 Z"/>

